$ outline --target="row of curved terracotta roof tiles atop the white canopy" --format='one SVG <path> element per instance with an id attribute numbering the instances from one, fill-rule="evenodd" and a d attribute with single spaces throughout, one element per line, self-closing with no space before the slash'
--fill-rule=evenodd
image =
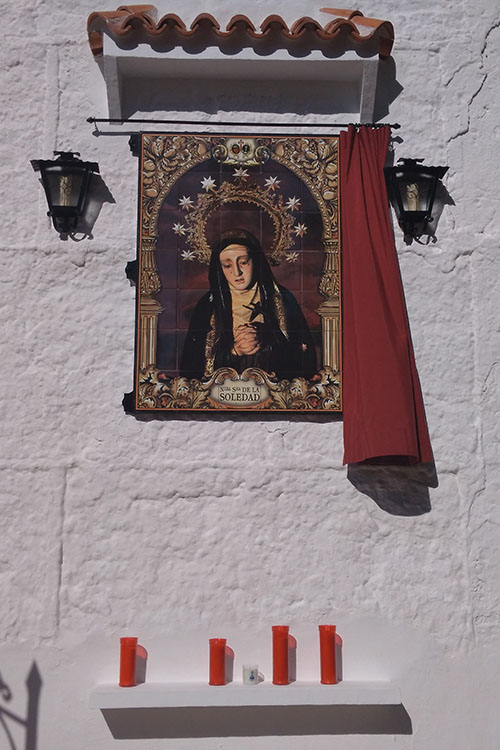
<path id="1" fill-rule="evenodd" d="M 95 56 L 102 55 L 103 33 L 120 39 L 140 31 L 151 41 L 158 38 L 193 37 L 198 33 L 209 31 L 216 38 L 226 39 L 235 33 L 245 33 L 253 39 L 263 39 L 271 34 L 278 34 L 284 41 L 295 41 L 305 34 L 316 36 L 319 40 L 328 42 L 345 35 L 350 37 L 356 45 L 373 44 L 381 57 L 388 57 L 394 42 L 394 29 L 389 21 L 376 18 L 366 18 L 359 10 L 342 8 L 321 8 L 325 13 L 336 16 L 326 25 L 321 25 L 314 18 L 304 16 L 297 19 L 290 27 L 286 21 L 276 14 L 271 14 L 262 21 L 259 28 L 247 16 L 235 15 L 225 29 L 221 29 L 219 22 L 210 13 L 200 13 L 188 28 L 184 21 L 175 13 L 167 13 L 156 21 L 154 5 L 121 5 L 114 11 L 96 11 L 91 13 L 87 21 L 90 48 Z M 361 27 L 361 29 L 360 29 Z M 369 29 L 365 33 L 364 29 Z"/>

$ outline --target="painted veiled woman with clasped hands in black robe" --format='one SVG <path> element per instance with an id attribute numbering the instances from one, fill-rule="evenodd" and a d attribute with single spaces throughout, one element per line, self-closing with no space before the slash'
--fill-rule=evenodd
<path id="1" fill-rule="evenodd" d="M 275 280 L 256 237 L 224 232 L 212 248 L 208 291 L 196 305 L 181 375 L 209 377 L 220 367 L 258 367 L 279 379 L 311 378 L 316 350 L 293 294 Z"/>

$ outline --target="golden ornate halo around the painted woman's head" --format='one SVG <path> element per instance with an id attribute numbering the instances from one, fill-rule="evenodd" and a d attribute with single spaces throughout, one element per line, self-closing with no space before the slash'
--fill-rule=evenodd
<path id="1" fill-rule="evenodd" d="M 266 255 L 272 265 L 278 265 L 294 244 L 294 218 L 284 205 L 283 196 L 276 195 L 270 188 L 264 189 L 258 185 L 242 187 L 227 181 L 218 188 L 199 194 L 196 204 L 185 218 L 186 242 L 193 248 L 196 258 L 201 263 L 210 263 L 212 248 L 207 240 L 207 223 L 214 211 L 228 203 L 252 203 L 266 211 L 274 226 L 272 249 Z"/>

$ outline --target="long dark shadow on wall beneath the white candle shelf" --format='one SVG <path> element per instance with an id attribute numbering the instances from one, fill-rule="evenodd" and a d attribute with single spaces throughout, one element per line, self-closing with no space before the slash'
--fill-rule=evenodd
<path id="1" fill-rule="evenodd" d="M 111 708 L 102 713 L 115 739 L 412 734 L 402 704 Z"/>

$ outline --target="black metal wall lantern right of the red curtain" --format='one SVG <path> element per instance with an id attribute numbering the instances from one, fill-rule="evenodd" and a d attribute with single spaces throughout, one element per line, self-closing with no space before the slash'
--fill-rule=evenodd
<path id="1" fill-rule="evenodd" d="M 407 245 L 418 240 L 433 221 L 438 180 L 448 171 L 448 167 L 426 167 L 422 162 L 423 159 L 399 159 L 401 166 L 384 168 L 389 200 Z"/>

